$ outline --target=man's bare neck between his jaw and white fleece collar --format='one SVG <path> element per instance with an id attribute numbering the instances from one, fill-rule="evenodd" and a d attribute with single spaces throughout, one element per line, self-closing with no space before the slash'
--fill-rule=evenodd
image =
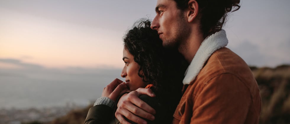
<path id="1" fill-rule="evenodd" d="M 199 31 L 193 31 L 189 38 L 180 44 L 178 50 L 188 63 L 191 63 L 202 41 L 204 41 L 203 34 Z"/>

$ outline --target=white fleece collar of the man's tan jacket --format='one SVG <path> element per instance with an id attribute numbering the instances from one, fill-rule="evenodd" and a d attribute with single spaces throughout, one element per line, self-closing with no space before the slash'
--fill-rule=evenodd
<path id="1" fill-rule="evenodd" d="M 207 59 L 210 58 L 212 53 L 226 45 L 228 45 L 228 39 L 225 30 L 215 32 L 204 39 L 185 72 L 183 84 L 190 84 L 190 82 L 199 74 L 199 71 L 202 69 Z"/>

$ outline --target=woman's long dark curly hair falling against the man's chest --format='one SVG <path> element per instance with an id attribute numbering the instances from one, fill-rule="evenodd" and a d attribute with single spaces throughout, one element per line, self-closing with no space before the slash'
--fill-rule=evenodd
<path id="1" fill-rule="evenodd" d="M 181 98 L 182 80 L 188 63 L 177 49 L 164 48 L 157 31 L 150 25 L 148 19 L 135 22 L 133 29 L 124 36 L 124 48 L 140 66 L 138 75 L 155 86 L 156 98 L 162 105 L 162 114 L 159 113 L 160 117 L 156 115 L 156 122 L 159 119 L 162 123 L 171 123 Z"/>

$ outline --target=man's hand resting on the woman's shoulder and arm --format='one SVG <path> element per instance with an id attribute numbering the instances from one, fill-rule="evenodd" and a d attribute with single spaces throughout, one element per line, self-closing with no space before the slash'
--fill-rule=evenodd
<path id="1" fill-rule="evenodd" d="M 124 94 L 119 99 L 119 102 L 117 104 L 118 108 L 115 112 L 115 117 L 120 121 L 120 123 L 128 124 L 129 122 L 126 121 L 125 118 L 128 118 L 129 120 L 140 124 L 147 123 L 142 118 L 146 118 L 148 120 L 155 119 L 155 117 L 153 116 L 156 113 L 155 110 L 148 104 L 146 104 L 146 102 L 138 98 L 141 94 L 155 97 L 155 94 L 152 92 L 151 89 L 139 88 L 128 94 Z"/>

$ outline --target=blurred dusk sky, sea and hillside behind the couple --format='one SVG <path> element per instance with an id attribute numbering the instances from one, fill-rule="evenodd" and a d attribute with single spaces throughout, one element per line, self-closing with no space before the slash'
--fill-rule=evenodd
<path id="1" fill-rule="evenodd" d="M 290 123 L 290 1 L 241 0 L 228 48 L 260 87 L 260 123 Z M 83 123 L 120 77 L 123 35 L 156 0 L 0 0 L 0 123 Z M 70 121 L 69 121 L 70 120 Z"/>

